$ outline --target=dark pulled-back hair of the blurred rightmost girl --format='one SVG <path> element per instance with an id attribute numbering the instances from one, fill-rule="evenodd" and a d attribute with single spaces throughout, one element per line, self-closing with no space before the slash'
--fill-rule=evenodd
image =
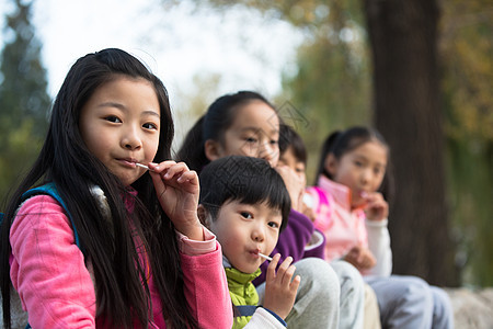
<path id="1" fill-rule="evenodd" d="M 318 179 L 321 174 L 325 175 L 329 179 L 332 179 L 331 173 L 325 170 L 325 158 L 330 154 L 332 154 L 335 159 L 339 160 L 345 154 L 371 140 L 376 140 L 387 148 L 388 161 L 386 174 L 383 175 L 382 183 L 380 184 L 378 191 L 383 194 L 383 197 L 388 202 L 390 202 L 394 193 L 394 185 L 389 145 L 377 129 L 369 127 L 354 126 L 343 132 L 335 131 L 326 137 L 326 139 L 322 144 L 322 149 L 320 151 L 319 168 L 317 170 L 314 185 L 318 184 Z"/>

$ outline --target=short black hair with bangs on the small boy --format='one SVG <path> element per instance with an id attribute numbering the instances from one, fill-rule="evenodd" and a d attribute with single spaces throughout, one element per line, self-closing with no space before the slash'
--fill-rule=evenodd
<path id="1" fill-rule="evenodd" d="M 200 172 L 199 203 L 216 219 L 219 208 L 230 201 L 244 204 L 266 202 L 283 216 L 280 230 L 291 208 L 289 193 L 283 178 L 264 159 L 228 156 L 211 161 Z"/>

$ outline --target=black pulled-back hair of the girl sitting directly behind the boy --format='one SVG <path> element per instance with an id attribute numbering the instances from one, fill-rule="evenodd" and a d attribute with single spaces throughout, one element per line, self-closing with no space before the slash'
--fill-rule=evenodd
<path id="1" fill-rule="evenodd" d="M 215 100 L 186 134 L 176 152 L 176 160 L 183 161 L 190 169 L 200 172 L 204 166 L 210 162 L 205 155 L 206 140 L 223 143 L 225 133 L 233 124 L 237 111 L 253 101 L 264 102 L 275 110 L 273 104 L 254 91 L 239 91 Z"/>

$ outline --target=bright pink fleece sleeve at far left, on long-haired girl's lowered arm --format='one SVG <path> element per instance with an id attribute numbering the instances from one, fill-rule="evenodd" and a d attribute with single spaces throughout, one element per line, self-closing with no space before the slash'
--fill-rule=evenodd
<path id="1" fill-rule="evenodd" d="M 50 196 L 20 208 L 10 230 L 10 276 L 33 328 L 95 328 L 94 286 L 70 220 Z"/>

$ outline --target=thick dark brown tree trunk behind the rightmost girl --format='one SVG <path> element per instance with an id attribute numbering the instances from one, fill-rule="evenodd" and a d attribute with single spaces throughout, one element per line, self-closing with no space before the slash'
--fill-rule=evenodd
<path id="1" fill-rule="evenodd" d="M 390 145 L 395 179 L 389 229 L 393 273 L 454 286 L 436 0 L 365 0 L 374 63 L 375 125 Z"/>

